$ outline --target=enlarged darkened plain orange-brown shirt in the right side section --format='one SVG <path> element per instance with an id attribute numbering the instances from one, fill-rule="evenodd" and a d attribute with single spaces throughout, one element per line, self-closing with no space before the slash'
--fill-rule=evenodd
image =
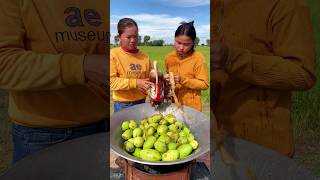
<path id="1" fill-rule="evenodd" d="M 211 79 L 217 120 L 231 135 L 287 156 L 294 152 L 291 91 L 315 84 L 313 30 L 300 2 L 231 0 L 211 10 L 229 46 L 225 69 Z"/>

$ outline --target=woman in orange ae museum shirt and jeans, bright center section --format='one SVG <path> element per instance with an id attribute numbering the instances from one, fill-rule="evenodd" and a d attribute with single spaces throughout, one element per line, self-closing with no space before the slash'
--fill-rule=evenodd
<path id="1" fill-rule="evenodd" d="M 110 90 L 114 112 L 144 103 L 151 62 L 138 48 L 138 25 L 130 18 L 118 23 L 120 47 L 110 50 Z"/>

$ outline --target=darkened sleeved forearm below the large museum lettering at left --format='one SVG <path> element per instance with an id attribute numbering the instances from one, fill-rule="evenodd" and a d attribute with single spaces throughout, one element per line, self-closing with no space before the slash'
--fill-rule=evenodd
<path id="1" fill-rule="evenodd" d="M 0 88 L 37 91 L 83 84 L 83 57 L 35 53 L 0 43 Z"/>

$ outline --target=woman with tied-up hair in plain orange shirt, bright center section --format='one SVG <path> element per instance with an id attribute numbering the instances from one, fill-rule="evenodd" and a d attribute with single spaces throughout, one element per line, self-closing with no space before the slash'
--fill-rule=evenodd
<path id="1" fill-rule="evenodd" d="M 202 110 L 201 91 L 209 87 L 208 67 L 203 55 L 195 50 L 193 21 L 181 23 L 175 32 L 175 51 L 165 58 L 167 72 L 175 75 L 176 94 L 182 105 Z"/>

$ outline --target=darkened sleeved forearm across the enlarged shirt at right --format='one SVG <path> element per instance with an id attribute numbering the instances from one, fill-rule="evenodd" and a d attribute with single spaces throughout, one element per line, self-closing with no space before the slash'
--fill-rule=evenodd
<path id="1" fill-rule="evenodd" d="M 225 70 L 256 86 L 278 90 L 309 89 L 315 83 L 315 76 L 300 62 L 298 58 L 257 55 L 231 48 Z"/>

